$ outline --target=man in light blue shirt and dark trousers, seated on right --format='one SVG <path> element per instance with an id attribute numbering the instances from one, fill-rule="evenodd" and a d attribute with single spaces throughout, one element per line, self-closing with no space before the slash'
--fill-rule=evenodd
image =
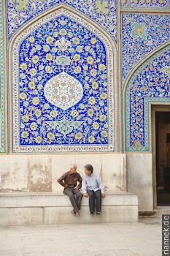
<path id="1" fill-rule="evenodd" d="M 85 165 L 85 176 L 82 178 L 82 192 L 89 195 L 90 216 L 93 216 L 96 200 L 96 214 L 101 215 L 101 197 L 105 197 L 104 185 L 97 173 L 93 173 L 92 165 Z"/>

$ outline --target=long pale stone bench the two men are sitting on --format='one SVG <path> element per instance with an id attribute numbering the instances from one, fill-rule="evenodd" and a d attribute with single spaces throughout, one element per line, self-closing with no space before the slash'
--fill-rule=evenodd
<path id="1" fill-rule="evenodd" d="M 88 198 L 82 197 L 80 216 L 71 214 L 69 197 L 55 192 L 0 194 L 0 226 L 72 223 L 137 222 L 138 197 L 129 192 L 107 192 L 101 217 L 89 215 Z"/>

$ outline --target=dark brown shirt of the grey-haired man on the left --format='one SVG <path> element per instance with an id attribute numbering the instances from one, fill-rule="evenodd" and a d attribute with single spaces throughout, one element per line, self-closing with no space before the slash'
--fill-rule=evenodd
<path id="1" fill-rule="evenodd" d="M 64 181 L 64 182 L 63 182 Z M 77 181 L 79 181 L 79 185 L 77 186 Z M 58 183 L 63 187 L 68 187 L 69 185 L 73 185 L 74 187 L 78 187 L 80 189 L 82 187 L 82 177 L 79 173 L 63 173 L 61 178 L 58 178 Z"/>

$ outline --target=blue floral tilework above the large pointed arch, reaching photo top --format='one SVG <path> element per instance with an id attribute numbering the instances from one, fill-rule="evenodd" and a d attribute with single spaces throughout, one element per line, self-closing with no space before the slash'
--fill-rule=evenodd
<path id="1" fill-rule="evenodd" d="M 117 40 L 117 1 L 116 0 L 8 0 L 8 35 L 12 37 L 20 26 L 37 15 L 66 4 L 93 19 Z"/>

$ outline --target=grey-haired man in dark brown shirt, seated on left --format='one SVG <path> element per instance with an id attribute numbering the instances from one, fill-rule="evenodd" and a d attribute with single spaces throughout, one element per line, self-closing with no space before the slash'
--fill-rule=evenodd
<path id="1" fill-rule="evenodd" d="M 77 182 L 79 182 L 78 185 Z M 78 210 L 80 210 L 83 195 L 79 191 L 79 189 L 82 187 L 82 177 L 79 173 L 77 173 L 77 165 L 70 165 L 70 170 L 63 173 L 61 178 L 58 178 L 58 183 L 64 187 L 63 194 L 69 196 L 69 200 L 74 208 L 72 214 L 74 216 L 79 216 L 80 213 Z"/>

